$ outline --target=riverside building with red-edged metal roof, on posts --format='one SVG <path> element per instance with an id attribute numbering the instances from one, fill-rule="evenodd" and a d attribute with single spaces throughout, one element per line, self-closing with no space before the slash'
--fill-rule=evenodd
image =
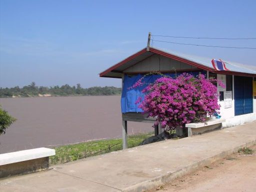
<path id="1" fill-rule="evenodd" d="M 143 74 L 151 71 L 168 73 L 204 73 L 205 76 L 222 80 L 225 88 L 218 87 L 223 127 L 256 120 L 256 66 L 244 65 L 214 58 L 175 53 L 155 47 L 147 47 L 123 59 L 99 74 L 100 77 L 122 79 L 122 132 L 123 148 L 127 147 L 127 121 L 153 122 L 145 118 L 135 103 L 141 94 L 139 89 L 127 89 Z M 153 82 L 157 75 L 148 77 Z M 160 129 L 160 128 L 159 128 Z M 155 133 L 158 133 L 155 127 Z"/>

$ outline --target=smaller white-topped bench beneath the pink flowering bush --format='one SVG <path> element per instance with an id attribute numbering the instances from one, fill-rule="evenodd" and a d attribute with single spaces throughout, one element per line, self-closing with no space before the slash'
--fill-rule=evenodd
<path id="1" fill-rule="evenodd" d="M 201 134 L 210 130 L 222 128 L 222 122 L 225 122 L 225 119 L 217 118 L 207 120 L 206 122 L 187 123 L 185 124 L 185 127 L 187 127 L 187 135 L 191 136 L 193 134 Z"/>

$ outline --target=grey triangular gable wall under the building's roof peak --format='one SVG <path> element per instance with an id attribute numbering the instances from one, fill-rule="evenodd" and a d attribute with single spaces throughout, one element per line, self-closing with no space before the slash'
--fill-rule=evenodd
<path id="1" fill-rule="evenodd" d="M 165 56 L 154 54 L 146 59 L 134 64 L 124 70 L 124 72 L 143 72 L 143 71 L 168 71 L 179 69 L 195 69 L 189 64 L 167 58 Z"/>

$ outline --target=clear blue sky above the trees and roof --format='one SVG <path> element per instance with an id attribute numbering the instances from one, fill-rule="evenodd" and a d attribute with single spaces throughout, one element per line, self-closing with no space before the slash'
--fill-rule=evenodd
<path id="1" fill-rule="evenodd" d="M 0 87 L 121 86 L 98 73 L 155 35 L 256 37 L 255 0 L 0 0 Z M 256 47 L 256 40 L 154 37 Z M 256 49 L 154 42 L 177 52 L 256 66 Z"/>

